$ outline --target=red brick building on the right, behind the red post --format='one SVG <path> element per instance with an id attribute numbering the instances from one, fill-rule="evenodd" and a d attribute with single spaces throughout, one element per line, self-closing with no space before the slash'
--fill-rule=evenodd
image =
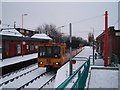
<path id="1" fill-rule="evenodd" d="M 97 52 L 103 55 L 104 52 L 104 32 L 101 33 L 97 38 Z M 108 56 L 111 58 L 112 54 L 116 54 L 119 58 L 120 63 L 120 30 L 115 30 L 114 27 L 108 29 Z"/>

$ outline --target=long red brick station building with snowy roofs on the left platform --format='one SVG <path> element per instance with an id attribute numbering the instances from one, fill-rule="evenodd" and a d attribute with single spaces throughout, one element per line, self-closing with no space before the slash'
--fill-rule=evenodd
<path id="1" fill-rule="evenodd" d="M 0 32 L 0 50 L 2 59 L 37 53 L 41 43 L 48 43 L 52 39 L 46 34 L 36 34 L 35 31 L 30 31 L 20 28 L 5 28 Z M 32 37 L 37 35 L 36 37 Z"/>

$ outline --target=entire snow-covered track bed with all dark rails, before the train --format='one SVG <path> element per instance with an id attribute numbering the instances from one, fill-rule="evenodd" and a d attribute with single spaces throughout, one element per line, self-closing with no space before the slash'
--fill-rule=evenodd
<path id="1" fill-rule="evenodd" d="M 39 90 L 44 88 L 46 85 L 48 85 L 50 82 L 52 82 L 55 79 L 55 73 L 47 71 L 46 68 L 40 69 L 36 65 L 32 65 L 31 67 L 21 69 L 17 71 L 16 73 L 12 72 L 9 75 L 4 76 L 3 78 L 0 78 L 2 83 L 0 82 L 0 88 L 15 88 L 16 90 L 21 90 L 23 88 L 30 88 L 31 85 L 34 85 L 37 81 L 41 81 L 42 84 L 40 87 L 37 87 Z M 37 72 L 36 72 L 37 71 Z M 23 79 L 24 77 L 31 76 L 32 73 L 39 73 L 39 75 L 34 75 L 34 78 L 27 80 L 27 78 Z M 41 73 L 41 74 L 40 74 Z M 44 81 L 44 80 L 45 81 Z M 24 84 L 20 80 L 25 81 Z M 21 82 L 21 85 L 15 85 L 16 82 Z M 31 84 L 31 85 L 30 85 Z M 14 86 L 16 87 L 14 87 Z M 30 86 L 29 86 L 30 85 Z M 12 87 L 13 86 L 13 87 Z M 35 85 L 36 88 L 36 85 Z"/>

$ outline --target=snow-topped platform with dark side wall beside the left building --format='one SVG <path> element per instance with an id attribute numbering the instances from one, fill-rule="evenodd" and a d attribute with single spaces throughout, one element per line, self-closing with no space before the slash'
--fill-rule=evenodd
<path id="1" fill-rule="evenodd" d="M 0 60 L 0 76 L 17 71 L 37 62 L 37 53 Z"/>

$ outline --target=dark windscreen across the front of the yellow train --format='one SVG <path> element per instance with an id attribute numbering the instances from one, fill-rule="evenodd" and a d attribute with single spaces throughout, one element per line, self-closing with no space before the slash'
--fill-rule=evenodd
<path id="1" fill-rule="evenodd" d="M 38 57 L 41 58 L 60 58 L 60 47 L 41 46 L 38 54 Z"/>

